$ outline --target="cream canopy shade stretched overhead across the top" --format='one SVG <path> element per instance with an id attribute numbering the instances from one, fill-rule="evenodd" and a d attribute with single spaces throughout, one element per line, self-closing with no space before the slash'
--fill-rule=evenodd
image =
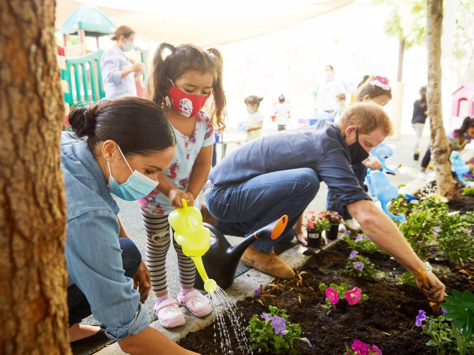
<path id="1" fill-rule="evenodd" d="M 86 2 L 99 7 L 117 26 L 131 27 L 141 40 L 207 47 L 274 32 L 353 1 L 57 0 L 56 28 Z"/>

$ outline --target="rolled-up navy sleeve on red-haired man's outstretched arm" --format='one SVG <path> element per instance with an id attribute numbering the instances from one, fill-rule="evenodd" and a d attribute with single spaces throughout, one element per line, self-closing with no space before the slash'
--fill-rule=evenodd
<path id="1" fill-rule="evenodd" d="M 343 148 L 327 152 L 316 167 L 316 172 L 343 207 L 361 200 L 372 200 L 360 186 Z"/>

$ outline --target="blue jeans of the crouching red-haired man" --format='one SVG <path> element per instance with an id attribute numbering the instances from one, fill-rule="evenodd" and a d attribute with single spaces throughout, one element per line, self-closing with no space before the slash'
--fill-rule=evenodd
<path id="1" fill-rule="evenodd" d="M 274 245 L 293 239 L 292 227 L 318 189 L 319 179 L 313 169 L 277 171 L 236 184 L 213 186 L 206 195 L 206 205 L 217 219 L 217 229 L 239 237 L 253 234 L 282 215 L 288 215 L 288 224 L 280 237 L 272 240 L 265 236 L 252 244 L 253 248 L 268 254 Z"/>

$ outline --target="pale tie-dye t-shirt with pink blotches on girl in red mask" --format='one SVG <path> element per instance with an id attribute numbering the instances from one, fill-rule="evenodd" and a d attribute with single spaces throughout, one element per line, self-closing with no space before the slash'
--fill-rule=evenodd
<path id="1" fill-rule="evenodd" d="M 215 142 L 214 128 L 209 116 L 199 111 L 196 115 L 196 125 L 191 137 L 186 136 L 174 127 L 173 130 L 176 137 L 176 153 L 169 167 L 161 174 L 176 188 L 186 191 L 201 147 L 212 145 Z M 168 196 L 159 192 L 158 187 L 138 202 L 142 210 L 151 214 L 167 215 L 174 210 Z M 197 207 L 197 198 L 194 205 Z"/>

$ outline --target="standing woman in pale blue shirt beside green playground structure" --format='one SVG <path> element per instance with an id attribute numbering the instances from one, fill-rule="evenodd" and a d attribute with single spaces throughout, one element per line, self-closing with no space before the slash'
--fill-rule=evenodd
<path id="1" fill-rule="evenodd" d="M 145 66 L 132 64 L 124 53 L 133 49 L 135 32 L 128 26 L 120 26 L 111 39 L 115 45 L 106 49 L 100 58 L 105 99 L 137 96 L 135 76 L 143 74 Z"/>

